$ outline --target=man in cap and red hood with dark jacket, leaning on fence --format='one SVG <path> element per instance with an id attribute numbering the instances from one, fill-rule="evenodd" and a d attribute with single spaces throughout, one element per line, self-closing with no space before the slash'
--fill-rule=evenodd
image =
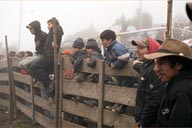
<path id="1" fill-rule="evenodd" d="M 137 46 L 137 60 L 133 68 L 140 74 L 141 83 L 137 89 L 135 120 L 137 127 L 154 127 L 157 114 L 165 89 L 163 83 L 153 71 L 154 61 L 146 60 L 144 55 L 153 53 L 160 48 L 160 44 L 152 37 L 133 40 L 132 45 Z"/>

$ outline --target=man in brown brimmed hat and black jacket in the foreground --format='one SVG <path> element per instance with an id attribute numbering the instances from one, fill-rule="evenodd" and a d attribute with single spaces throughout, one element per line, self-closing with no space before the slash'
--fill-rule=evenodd
<path id="1" fill-rule="evenodd" d="M 192 52 L 175 39 L 144 56 L 155 62 L 154 71 L 164 83 L 166 95 L 160 104 L 157 127 L 192 127 Z"/>

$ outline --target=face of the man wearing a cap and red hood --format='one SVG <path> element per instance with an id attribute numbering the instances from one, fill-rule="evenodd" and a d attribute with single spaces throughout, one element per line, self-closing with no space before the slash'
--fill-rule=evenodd
<path id="1" fill-rule="evenodd" d="M 137 53 L 137 60 L 139 60 L 139 61 L 145 60 L 144 59 L 144 55 L 148 54 L 147 46 L 140 46 L 140 45 L 138 45 L 136 53 Z"/>

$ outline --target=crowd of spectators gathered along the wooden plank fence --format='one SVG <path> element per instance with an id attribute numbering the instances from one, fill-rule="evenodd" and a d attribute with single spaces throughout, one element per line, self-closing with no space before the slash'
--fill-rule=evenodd
<path id="1" fill-rule="evenodd" d="M 192 20 L 192 4 L 188 3 L 186 9 L 189 19 Z M 22 73 L 34 78 L 43 98 L 52 100 L 54 95 L 51 95 L 53 90 L 50 91 L 50 88 L 53 88 L 55 83 L 50 74 L 53 74 L 54 70 L 54 48 L 60 48 L 63 30 L 56 18 L 48 20 L 47 23 L 48 34 L 41 30 L 39 21 L 33 21 L 26 26 L 31 34 L 35 35 L 35 56 L 29 51 L 18 54 L 10 52 L 10 56 L 23 58 L 20 62 Z M 104 30 L 100 39 L 104 54 L 95 39 L 89 38 L 85 41 L 81 37 L 73 41 L 72 51 L 67 49 L 61 52 L 63 56 L 70 58 L 73 65 L 71 72 L 76 74 L 74 81 L 98 83 L 98 74 L 80 70 L 83 60 L 90 68 L 96 66 L 97 60 L 105 60 L 109 68 L 117 70 L 133 61 L 133 69 L 140 74 L 135 106 L 136 127 L 192 127 L 192 51 L 187 44 L 177 39 L 159 42 L 150 36 L 132 40 L 131 44 L 136 47 L 136 58 L 132 60 L 128 48 L 116 40 L 114 31 Z M 63 75 L 66 75 L 65 73 Z M 135 81 L 131 77 L 105 76 L 106 81 L 113 79 L 117 86 L 134 88 Z M 66 97 L 90 106 L 98 104 L 89 98 L 73 95 Z M 123 113 L 127 106 L 110 104 L 105 107 L 113 112 Z M 76 123 L 81 120 L 81 117 L 70 114 L 67 117 Z"/>

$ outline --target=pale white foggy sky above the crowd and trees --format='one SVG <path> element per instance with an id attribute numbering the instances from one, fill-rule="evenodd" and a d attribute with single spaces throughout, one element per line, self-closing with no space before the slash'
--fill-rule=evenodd
<path id="1" fill-rule="evenodd" d="M 185 15 L 187 0 L 174 1 L 174 14 L 181 13 Z M 0 42 L 4 42 L 4 35 L 7 35 L 9 44 L 16 44 L 20 50 L 34 51 L 34 36 L 26 29 L 26 25 L 33 20 L 39 20 L 42 30 L 48 32 L 47 20 L 56 17 L 65 32 L 64 41 L 66 36 L 88 28 L 91 24 L 101 32 L 112 26 L 122 14 L 126 18 L 131 18 L 136 9 L 140 7 L 140 4 L 140 0 L 23 0 L 22 2 L 19 0 L 0 0 Z M 154 24 L 166 24 L 167 0 L 143 0 L 142 10 L 152 15 Z M 19 37 L 21 42 L 18 45 Z"/>

